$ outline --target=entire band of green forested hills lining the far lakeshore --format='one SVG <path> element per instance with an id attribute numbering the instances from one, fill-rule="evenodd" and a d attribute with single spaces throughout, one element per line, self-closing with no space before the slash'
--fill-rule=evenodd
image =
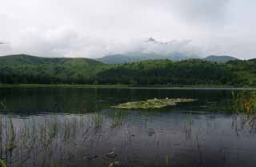
<path id="1" fill-rule="evenodd" d="M 214 57 L 105 64 L 90 58 L 0 57 L 0 86 L 202 86 L 254 87 L 256 59 Z"/>

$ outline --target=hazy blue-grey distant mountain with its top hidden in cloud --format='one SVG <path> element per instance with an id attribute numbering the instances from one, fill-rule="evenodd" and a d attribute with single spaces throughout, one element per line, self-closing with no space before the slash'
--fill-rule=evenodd
<path id="1" fill-rule="evenodd" d="M 181 53 L 173 53 L 173 54 L 144 54 L 144 53 L 128 53 L 128 54 L 114 54 L 108 55 L 103 58 L 97 58 L 99 62 L 103 62 L 105 64 L 124 64 L 128 62 L 141 62 L 145 60 L 172 60 L 172 61 L 181 61 L 190 58 L 199 58 L 195 55 L 185 55 Z"/>

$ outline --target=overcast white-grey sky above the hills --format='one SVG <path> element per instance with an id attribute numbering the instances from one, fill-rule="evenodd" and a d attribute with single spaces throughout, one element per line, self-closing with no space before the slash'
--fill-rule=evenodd
<path id="1" fill-rule="evenodd" d="M 0 55 L 256 58 L 254 0 L 2 0 Z M 146 42 L 148 38 L 158 42 Z"/>

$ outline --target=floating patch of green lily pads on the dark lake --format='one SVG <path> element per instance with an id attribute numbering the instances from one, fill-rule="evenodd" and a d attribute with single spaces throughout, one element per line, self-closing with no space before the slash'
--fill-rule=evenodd
<path id="1" fill-rule="evenodd" d="M 132 101 L 122 103 L 116 106 L 112 106 L 112 108 L 117 109 L 160 109 L 169 105 L 177 105 L 181 102 L 192 102 L 196 101 L 196 99 L 190 98 L 165 98 L 165 99 L 150 99 L 145 101 Z"/>

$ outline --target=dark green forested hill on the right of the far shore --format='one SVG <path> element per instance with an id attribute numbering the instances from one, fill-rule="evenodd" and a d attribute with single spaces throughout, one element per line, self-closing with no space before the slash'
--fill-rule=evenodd
<path id="1" fill-rule="evenodd" d="M 256 61 L 206 62 L 200 59 L 134 62 L 97 74 L 102 84 L 256 85 Z"/>

